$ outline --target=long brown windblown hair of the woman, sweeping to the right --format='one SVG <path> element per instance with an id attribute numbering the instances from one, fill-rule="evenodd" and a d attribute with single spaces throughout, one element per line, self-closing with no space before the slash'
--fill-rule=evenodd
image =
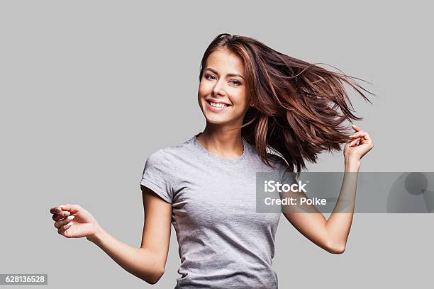
<path id="1" fill-rule="evenodd" d="M 238 55 L 244 63 L 247 94 L 254 106 L 245 115 L 241 134 L 255 145 L 268 166 L 272 164 L 267 147 L 281 154 L 288 169 L 296 168 L 297 174 L 306 169 L 304 159 L 315 163 L 322 151 L 341 150 L 340 144 L 351 134 L 349 126 L 342 123 L 363 119 L 353 114 L 343 84 L 349 84 L 372 104 L 361 90 L 372 93 L 357 84 L 353 80 L 356 77 L 284 55 L 253 38 L 228 33 L 216 36 L 208 45 L 199 81 L 208 56 L 221 49 Z"/>

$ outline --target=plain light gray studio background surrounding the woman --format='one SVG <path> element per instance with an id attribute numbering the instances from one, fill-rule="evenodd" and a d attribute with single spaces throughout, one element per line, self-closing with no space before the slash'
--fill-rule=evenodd
<path id="1" fill-rule="evenodd" d="M 114 237 L 140 246 L 145 159 L 203 130 L 199 62 L 218 33 L 372 82 L 374 106 L 351 92 L 365 117 L 357 124 L 375 144 L 361 170 L 433 171 L 426 3 L 1 1 L 0 273 L 48 273 L 52 288 L 174 287 L 174 231 L 165 275 L 148 285 L 86 239 L 57 234 L 48 209 L 78 203 Z M 308 169 L 342 171 L 343 154 L 322 154 Z M 432 220 L 357 214 L 345 254 L 333 255 L 282 216 L 279 288 L 428 286 Z"/>

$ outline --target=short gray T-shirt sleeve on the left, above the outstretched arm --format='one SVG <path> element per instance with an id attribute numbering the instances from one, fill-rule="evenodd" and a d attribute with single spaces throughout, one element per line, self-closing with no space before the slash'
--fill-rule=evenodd
<path id="1" fill-rule="evenodd" d="M 159 149 L 151 154 L 145 162 L 140 185 L 150 188 L 168 203 L 173 198 L 173 162 L 168 152 Z"/>

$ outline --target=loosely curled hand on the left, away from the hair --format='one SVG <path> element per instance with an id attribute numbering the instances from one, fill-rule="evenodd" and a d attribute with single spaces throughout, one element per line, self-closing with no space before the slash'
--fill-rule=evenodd
<path id="1" fill-rule="evenodd" d="M 50 212 L 57 232 L 63 237 L 90 239 L 99 230 L 94 216 L 80 205 L 60 205 L 50 208 Z"/>

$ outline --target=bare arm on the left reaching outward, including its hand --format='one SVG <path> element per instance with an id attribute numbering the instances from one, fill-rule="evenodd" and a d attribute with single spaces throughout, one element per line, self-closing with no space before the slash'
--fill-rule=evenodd
<path id="1" fill-rule="evenodd" d="M 122 268 L 129 273 L 155 284 L 165 271 L 167 253 L 169 250 L 170 225 L 172 205 L 162 200 L 149 188 L 142 187 L 145 222 L 140 248 L 130 246 L 119 241 L 106 232 L 96 222 L 94 217 L 79 205 L 62 205 L 62 212 L 74 215 L 73 225 L 65 227 L 69 220 L 58 219 L 55 227 L 65 237 L 87 237 L 87 239 L 108 254 Z M 55 208 L 52 209 L 55 212 Z M 53 220 L 56 220 L 53 216 Z"/>

